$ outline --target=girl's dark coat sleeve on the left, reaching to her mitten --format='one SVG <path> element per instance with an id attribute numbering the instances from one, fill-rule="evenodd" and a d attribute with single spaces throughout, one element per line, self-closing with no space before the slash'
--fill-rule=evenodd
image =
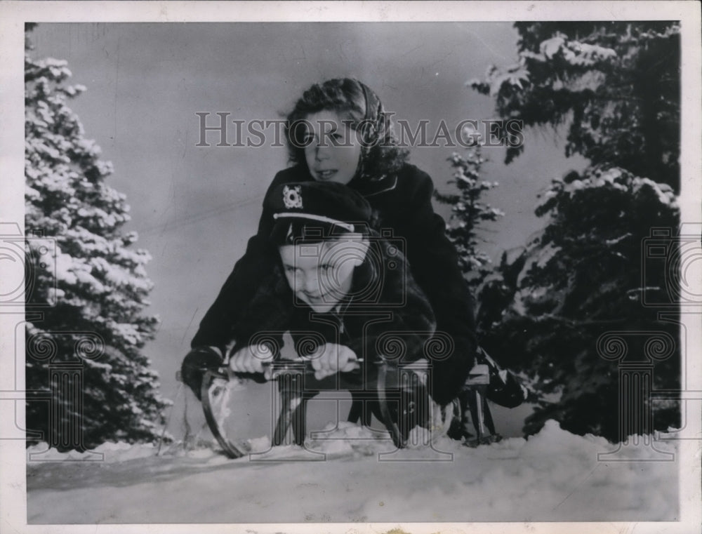
<path id="1" fill-rule="evenodd" d="M 286 171 L 277 173 L 268 187 L 266 196 L 271 189 L 286 182 L 288 174 Z M 249 239 L 246 253 L 234 265 L 219 295 L 204 315 L 197 333 L 190 342 L 191 347 L 209 345 L 225 350 L 227 344 L 235 337 L 233 329 L 240 323 L 241 316 L 257 288 L 265 277 L 270 276 L 272 266 L 277 260 L 268 244 L 272 226 L 272 214 L 264 206 L 258 222 L 258 232 Z"/>

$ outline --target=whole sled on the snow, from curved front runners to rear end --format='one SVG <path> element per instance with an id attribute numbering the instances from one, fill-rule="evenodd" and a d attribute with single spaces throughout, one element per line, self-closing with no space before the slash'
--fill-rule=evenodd
<path id="1" fill-rule="evenodd" d="M 432 429 L 435 436 L 446 435 L 462 440 L 465 446 L 500 441 L 487 400 L 501 406 L 519 406 L 527 396 L 517 378 L 500 368 L 483 349 L 478 350 L 477 364 L 471 369 L 463 389 L 453 403 L 442 408 L 437 423 L 432 418 L 432 402 L 428 391 L 428 362 L 420 360 L 406 366 L 381 360 L 359 367 L 350 373 L 337 373 L 323 380 L 314 378 L 314 370 L 307 360 L 283 360 L 267 364 L 263 373 L 234 373 L 227 363 L 216 371 L 207 371 L 201 384 L 201 400 L 207 425 L 224 453 L 230 458 L 241 458 L 251 452 L 245 439 L 230 436 L 227 422 L 231 422 L 230 387 L 234 382 L 253 380 L 277 382 L 277 402 L 274 408 L 272 444 L 292 442 L 302 446 L 306 436 L 305 416 L 307 403 L 322 391 L 347 390 L 352 405 L 347 420 L 371 427 L 371 418 L 382 423 L 397 448 L 404 448 L 414 425 Z M 424 376 L 424 379 L 420 377 Z M 470 423 L 469 423 L 470 416 Z M 435 432 L 439 429 L 439 432 Z"/>

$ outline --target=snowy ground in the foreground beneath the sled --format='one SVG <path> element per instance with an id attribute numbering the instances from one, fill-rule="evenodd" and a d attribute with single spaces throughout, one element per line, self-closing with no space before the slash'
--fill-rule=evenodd
<path id="1" fill-rule="evenodd" d="M 328 437 L 333 439 L 310 440 L 309 450 L 284 446 L 239 460 L 227 460 L 211 448 L 156 455 L 152 446 L 106 443 L 97 449 L 102 461 L 88 462 L 84 460 L 92 455 L 46 452 L 40 444 L 28 451 L 44 452 L 34 458 L 65 461 L 27 462 L 27 522 L 463 523 L 679 517 L 677 457 L 598 461 L 598 453 L 616 446 L 574 436 L 555 422 L 528 440 L 510 438 L 478 448 L 439 439 L 434 448 L 394 450 L 386 436 L 348 423 Z M 268 443 L 262 438 L 254 445 L 267 450 Z M 664 460 L 652 445 L 676 453 L 670 441 L 620 453 Z M 310 450 L 326 453 L 326 458 Z M 297 461 L 310 457 L 316 461 Z"/>

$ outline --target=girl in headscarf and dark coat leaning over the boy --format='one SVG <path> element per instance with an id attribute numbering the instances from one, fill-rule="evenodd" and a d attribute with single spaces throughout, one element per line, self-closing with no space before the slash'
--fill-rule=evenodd
<path id="1" fill-rule="evenodd" d="M 437 331 L 452 340 L 446 347 L 449 355 L 432 366 L 434 400 L 446 405 L 461 391 L 475 363 L 477 343 L 471 296 L 458 269 L 456 249 L 446 238 L 444 220 L 432 208 L 431 178 L 407 162 L 408 152 L 398 146 L 380 99 L 360 81 L 314 84 L 287 118 L 292 165 L 277 173 L 267 194 L 292 182 L 338 182 L 370 203 L 373 227 L 402 247 L 432 306 Z M 246 305 L 277 262 L 266 244 L 273 223 L 270 208 L 263 206 L 258 233 L 192 340 L 194 354 L 183 363 L 183 379 L 196 394 L 201 370 L 218 366 L 220 352 L 237 337 Z"/>

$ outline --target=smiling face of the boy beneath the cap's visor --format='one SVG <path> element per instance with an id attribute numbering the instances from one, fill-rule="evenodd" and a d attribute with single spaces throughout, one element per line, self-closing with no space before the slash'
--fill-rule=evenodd
<path id="1" fill-rule="evenodd" d="M 333 310 L 351 291 L 353 272 L 364 259 L 359 241 L 322 241 L 278 248 L 285 277 L 296 298 L 314 312 Z"/>

